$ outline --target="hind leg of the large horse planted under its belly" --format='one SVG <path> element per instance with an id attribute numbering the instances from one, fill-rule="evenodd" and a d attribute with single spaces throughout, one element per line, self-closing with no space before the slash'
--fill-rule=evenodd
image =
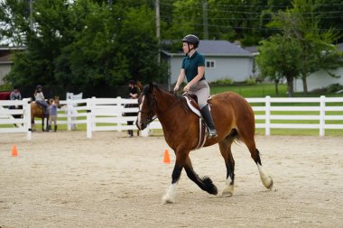
<path id="1" fill-rule="evenodd" d="M 232 196 L 234 195 L 234 185 L 235 185 L 235 160 L 231 152 L 231 144 L 235 140 L 235 136 L 228 135 L 227 138 L 219 142 L 219 149 L 221 155 L 224 158 L 225 165 L 227 167 L 227 186 L 221 192 L 222 196 Z"/>

